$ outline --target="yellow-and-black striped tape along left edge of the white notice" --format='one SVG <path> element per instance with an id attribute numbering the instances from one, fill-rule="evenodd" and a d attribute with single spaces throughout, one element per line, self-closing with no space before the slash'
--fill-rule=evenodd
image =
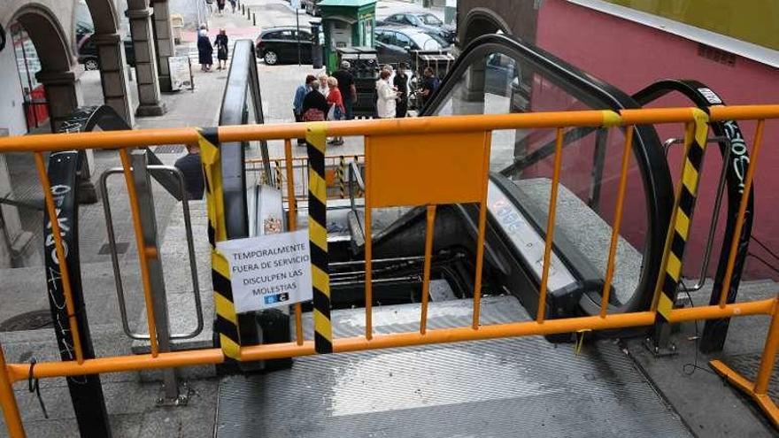
<path id="1" fill-rule="evenodd" d="M 208 210 L 208 242 L 211 243 L 211 278 L 213 304 L 216 310 L 216 327 L 220 346 L 225 356 L 239 360 L 241 337 L 238 316 L 233 302 L 228 260 L 216 249 L 216 242 L 227 239 L 225 204 L 222 192 L 222 166 L 220 160 L 219 132 L 217 128 L 199 129 L 198 145 L 205 173 L 205 201 Z"/>

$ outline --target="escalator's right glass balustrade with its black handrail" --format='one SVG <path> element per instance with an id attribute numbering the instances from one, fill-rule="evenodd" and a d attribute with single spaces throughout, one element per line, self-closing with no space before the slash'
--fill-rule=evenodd
<path id="1" fill-rule="evenodd" d="M 420 115 L 620 111 L 640 106 L 621 90 L 543 50 L 510 36 L 485 35 L 463 50 Z M 599 311 L 619 178 L 615 164 L 622 142 L 617 129 L 576 128 L 564 134 L 564 176 L 546 318 Z M 483 282 L 489 285 L 488 294 L 508 291 L 517 296 L 534 317 L 553 152 L 553 130 L 493 134 L 488 263 Z M 653 127 L 636 127 L 632 155 L 630 212 L 618 246 L 610 312 L 649 306 L 673 202 L 667 161 Z M 473 240 L 476 234 L 474 206 L 451 205 L 444 211 L 436 222 L 434 252 L 457 245 L 463 235 Z M 359 211 L 354 216 L 351 224 L 359 224 Z M 418 251 L 423 245 L 424 221 L 424 209 L 416 209 L 374 234 L 375 257 L 409 257 Z M 359 234 L 361 227 L 352 228 L 353 234 Z M 359 236 L 358 240 L 363 239 Z M 473 259 L 473 245 L 467 250 Z"/>

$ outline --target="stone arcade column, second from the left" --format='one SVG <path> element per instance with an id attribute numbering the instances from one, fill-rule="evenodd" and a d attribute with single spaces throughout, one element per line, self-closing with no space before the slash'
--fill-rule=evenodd
<path id="1" fill-rule="evenodd" d="M 100 58 L 100 81 L 103 84 L 103 98 L 106 105 L 116 110 L 127 125 L 135 125 L 130 90 L 127 85 L 127 59 L 124 42 L 119 34 L 92 35 L 92 41 Z"/>

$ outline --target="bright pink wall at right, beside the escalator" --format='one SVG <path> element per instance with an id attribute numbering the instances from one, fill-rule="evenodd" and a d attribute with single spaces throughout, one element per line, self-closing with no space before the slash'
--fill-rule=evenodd
<path id="1" fill-rule="evenodd" d="M 565 0 L 547 0 L 538 15 L 536 43 L 559 58 L 592 73 L 629 94 L 653 81 L 666 78 L 696 79 L 708 85 L 727 104 L 779 104 L 779 70 L 746 58 L 737 57 L 734 66 L 723 65 L 698 56 L 698 42 L 667 34 L 652 27 L 592 11 Z M 666 97 L 653 106 L 689 106 L 681 97 Z M 747 144 L 752 146 L 753 122 L 741 123 Z M 681 127 L 659 127 L 661 140 L 680 136 Z M 779 139 L 779 121 L 766 125 L 764 149 L 755 180 L 756 219 L 752 234 L 779 251 L 779 214 L 775 205 L 779 198 L 779 150 L 773 147 Z M 685 273 L 698 273 L 703 242 L 713 209 L 713 194 L 721 165 L 715 148 L 706 155 L 701 193 L 693 232 L 685 257 Z M 679 174 L 679 153 L 671 160 L 674 179 Z M 777 181 L 774 180 L 777 178 Z M 721 223 L 723 221 L 721 220 Z M 715 243 L 712 266 L 721 243 Z M 751 251 L 763 258 L 770 256 L 757 245 Z M 779 262 L 775 262 L 779 265 Z M 770 273 L 750 258 L 747 268 L 751 277 L 767 277 Z"/>

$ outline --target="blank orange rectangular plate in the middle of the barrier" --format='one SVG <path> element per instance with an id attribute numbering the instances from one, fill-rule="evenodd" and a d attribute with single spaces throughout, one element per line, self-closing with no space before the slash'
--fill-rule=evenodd
<path id="1" fill-rule="evenodd" d="M 488 148 L 484 132 L 372 136 L 366 150 L 370 204 L 480 202 Z"/>

